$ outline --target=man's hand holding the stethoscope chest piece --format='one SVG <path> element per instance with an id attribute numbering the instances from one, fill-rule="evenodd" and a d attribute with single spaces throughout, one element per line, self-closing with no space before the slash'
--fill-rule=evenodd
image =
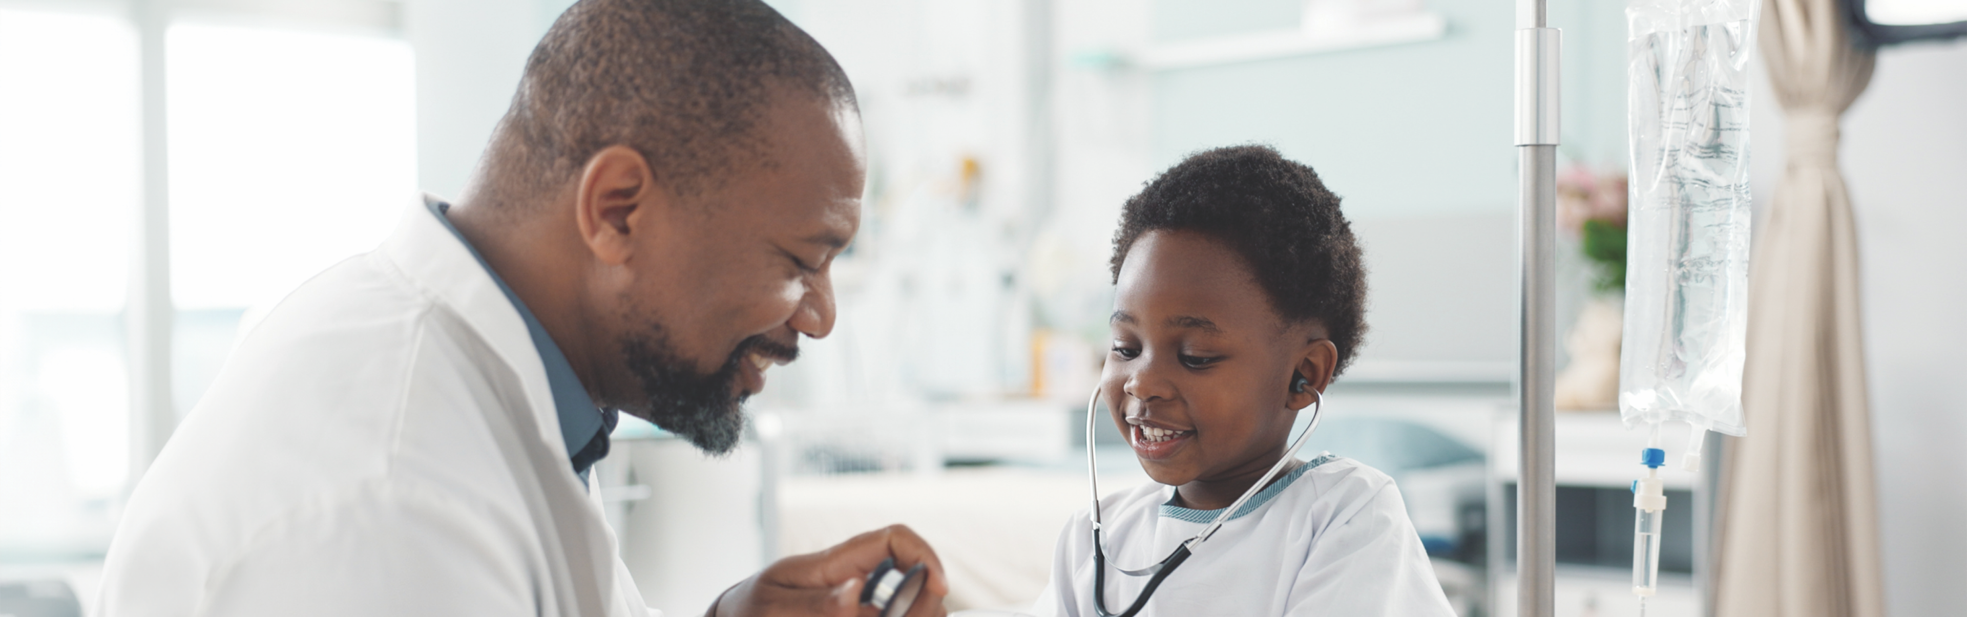
<path id="1" fill-rule="evenodd" d="M 869 531 L 820 552 L 783 558 L 726 589 L 710 607 L 710 617 L 871 617 L 873 609 L 860 603 L 862 586 L 867 584 L 867 574 L 891 556 L 901 570 L 928 564 L 923 595 L 915 597 L 907 617 L 942 617 L 942 595 L 950 593 L 942 562 L 923 536 L 903 525 Z"/>

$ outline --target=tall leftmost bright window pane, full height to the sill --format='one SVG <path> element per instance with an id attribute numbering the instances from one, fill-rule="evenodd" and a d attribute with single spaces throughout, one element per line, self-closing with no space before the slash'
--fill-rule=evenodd
<path id="1" fill-rule="evenodd" d="M 0 560 L 100 550 L 128 476 L 136 31 L 0 10 Z"/>

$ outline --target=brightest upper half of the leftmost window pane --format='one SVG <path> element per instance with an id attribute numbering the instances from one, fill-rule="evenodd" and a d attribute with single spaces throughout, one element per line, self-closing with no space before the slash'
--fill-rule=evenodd
<path id="1" fill-rule="evenodd" d="M 126 22 L 0 10 L 0 310 L 122 310 L 138 86 Z"/>

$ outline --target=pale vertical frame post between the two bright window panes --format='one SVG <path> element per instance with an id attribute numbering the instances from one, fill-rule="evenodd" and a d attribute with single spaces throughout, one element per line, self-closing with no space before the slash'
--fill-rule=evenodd
<path id="1" fill-rule="evenodd" d="M 138 210 L 130 299 L 124 308 L 130 358 L 130 479 L 136 487 L 163 442 L 177 428 L 171 403 L 171 185 L 165 141 L 165 45 L 167 0 L 130 2 L 142 51 L 144 104 L 144 200 Z"/>

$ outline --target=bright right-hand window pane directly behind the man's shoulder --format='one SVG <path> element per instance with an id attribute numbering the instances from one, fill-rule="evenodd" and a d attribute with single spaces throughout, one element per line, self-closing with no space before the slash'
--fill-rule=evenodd
<path id="1" fill-rule="evenodd" d="M 277 303 L 413 202 L 407 43 L 203 24 L 165 43 L 179 310 Z"/>

